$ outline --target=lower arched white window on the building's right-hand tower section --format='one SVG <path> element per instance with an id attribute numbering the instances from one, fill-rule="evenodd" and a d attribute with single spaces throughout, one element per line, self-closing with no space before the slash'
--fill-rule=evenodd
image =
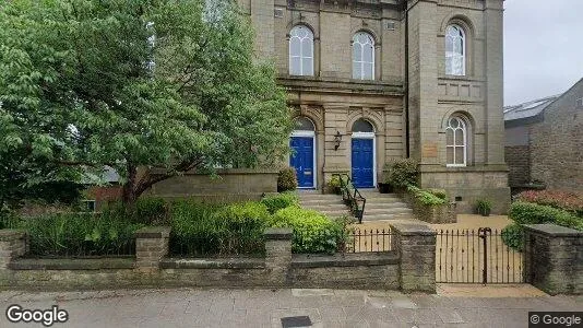
<path id="1" fill-rule="evenodd" d="M 445 128 L 447 164 L 448 166 L 466 166 L 467 164 L 467 128 L 464 120 L 452 116 Z"/>

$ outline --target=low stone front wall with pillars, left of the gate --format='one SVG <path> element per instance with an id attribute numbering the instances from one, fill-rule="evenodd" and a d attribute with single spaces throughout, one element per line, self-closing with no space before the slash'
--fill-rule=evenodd
<path id="1" fill-rule="evenodd" d="M 168 257 L 167 227 L 136 232 L 135 258 L 31 259 L 22 232 L 1 231 L 0 289 L 333 288 L 435 292 L 435 232 L 395 225 L 382 253 L 293 255 L 291 231 L 265 232 L 265 257 Z"/>

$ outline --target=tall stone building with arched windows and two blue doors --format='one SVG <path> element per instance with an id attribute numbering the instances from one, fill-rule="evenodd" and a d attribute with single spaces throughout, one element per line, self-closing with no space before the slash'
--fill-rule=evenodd
<path id="1" fill-rule="evenodd" d="M 372 188 L 391 159 L 461 211 L 509 202 L 503 152 L 503 0 L 239 0 L 260 58 L 296 109 L 300 187 L 349 173 Z"/>

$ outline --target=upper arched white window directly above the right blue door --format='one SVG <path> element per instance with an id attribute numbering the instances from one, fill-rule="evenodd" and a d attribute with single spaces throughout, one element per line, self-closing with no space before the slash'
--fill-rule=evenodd
<path id="1" fill-rule="evenodd" d="M 374 39 L 366 32 L 353 38 L 353 79 L 374 80 Z"/>

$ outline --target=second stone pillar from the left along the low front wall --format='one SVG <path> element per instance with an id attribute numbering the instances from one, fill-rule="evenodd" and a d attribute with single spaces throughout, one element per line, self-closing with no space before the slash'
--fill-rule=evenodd
<path id="1" fill-rule="evenodd" d="M 135 268 L 159 269 L 159 260 L 168 255 L 169 226 L 148 226 L 135 232 Z"/>

